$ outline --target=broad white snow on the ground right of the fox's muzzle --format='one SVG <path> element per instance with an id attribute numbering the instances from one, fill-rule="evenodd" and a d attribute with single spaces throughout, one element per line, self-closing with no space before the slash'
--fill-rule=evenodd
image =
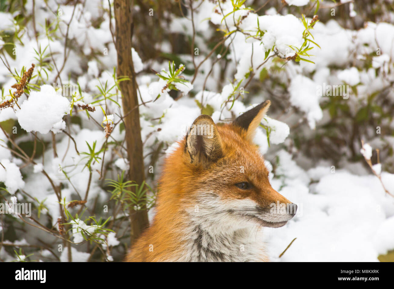
<path id="1" fill-rule="evenodd" d="M 299 205 L 286 226 L 264 229 L 273 261 L 377 261 L 378 254 L 394 248 L 393 218 L 385 218 L 385 213 L 393 214 L 394 200 L 375 176 L 331 173 L 328 167 L 315 174 L 318 183 L 308 188 L 308 179 L 302 181 L 296 171 L 296 165 L 289 168 L 286 160 L 281 161 L 276 174 L 286 176 L 285 186 L 279 189 L 281 182 L 271 181 L 274 189 Z M 394 175 L 387 177 L 394 181 Z"/>

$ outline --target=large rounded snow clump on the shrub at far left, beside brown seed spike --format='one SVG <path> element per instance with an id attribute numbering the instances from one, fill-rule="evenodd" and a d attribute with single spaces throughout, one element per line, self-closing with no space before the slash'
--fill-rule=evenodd
<path id="1" fill-rule="evenodd" d="M 51 129 L 57 132 L 65 127 L 62 118 L 69 111 L 67 98 L 56 94 L 52 86 L 42 85 L 41 91 L 32 91 L 29 99 L 23 101 L 16 115 L 25 131 L 46 134 Z"/>

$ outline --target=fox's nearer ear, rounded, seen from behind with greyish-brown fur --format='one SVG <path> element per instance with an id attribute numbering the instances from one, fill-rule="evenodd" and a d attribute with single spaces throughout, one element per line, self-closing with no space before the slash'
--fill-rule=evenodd
<path id="1" fill-rule="evenodd" d="M 203 114 L 196 118 L 188 129 L 186 148 L 191 163 L 215 161 L 223 156 L 221 138 L 210 116 Z"/>

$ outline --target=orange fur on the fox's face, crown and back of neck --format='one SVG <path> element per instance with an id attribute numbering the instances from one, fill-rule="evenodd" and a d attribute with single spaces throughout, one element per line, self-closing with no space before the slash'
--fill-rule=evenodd
<path id="1" fill-rule="evenodd" d="M 262 117 L 261 113 L 256 116 L 260 120 Z M 268 170 L 258 148 L 250 141 L 250 131 L 234 124 L 219 124 L 216 133 L 220 137 L 215 142 L 221 151 L 217 160 L 202 154 L 197 162 L 192 162 L 186 137 L 167 156 L 159 180 L 154 221 L 136 241 L 126 261 L 182 261 L 180 256 L 189 239 L 184 230 L 190 222 L 189 212 L 196 206 L 204 212 L 204 204 L 196 197 L 201 192 L 214 191 L 224 203 L 252 200 L 268 210 L 277 201 L 290 203 L 269 184 Z M 253 183 L 253 189 L 234 186 L 240 182 Z M 264 251 L 260 259 L 268 261 Z"/>

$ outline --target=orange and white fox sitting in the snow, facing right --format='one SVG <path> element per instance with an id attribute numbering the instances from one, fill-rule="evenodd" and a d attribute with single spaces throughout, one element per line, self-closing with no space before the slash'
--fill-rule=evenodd
<path id="1" fill-rule="evenodd" d="M 253 144 L 269 106 L 266 100 L 231 123 L 197 117 L 193 128 L 210 129 L 191 129 L 165 158 L 152 225 L 125 261 L 270 261 L 263 228 L 284 226 L 297 205 L 271 187 Z M 272 212 L 271 204 L 293 210 Z"/>

